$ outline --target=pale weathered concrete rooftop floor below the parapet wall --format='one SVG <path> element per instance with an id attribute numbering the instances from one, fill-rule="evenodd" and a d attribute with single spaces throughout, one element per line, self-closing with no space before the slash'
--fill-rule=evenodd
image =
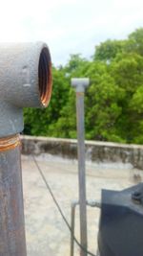
<path id="1" fill-rule="evenodd" d="M 50 155 L 36 157 L 67 220 L 78 198 L 77 162 Z M 70 232 L 58 213 L 31 156 L 22 156 L 28 256 L 69 256 Z M 123 164 L 87 163 L 87 198 L 100 199 L 101 189 L 122 190 L 142 180 L 142 172 Z M 96 252 L 99 210 L 88 207 L 89 250 Z M 79 212 L 75 234 L 79 239 Z M 74 255 L 79 255 L 75 245 Z"/>

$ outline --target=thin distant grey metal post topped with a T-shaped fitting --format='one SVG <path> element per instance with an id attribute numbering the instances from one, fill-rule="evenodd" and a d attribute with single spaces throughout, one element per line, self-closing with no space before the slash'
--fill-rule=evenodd
<path id="1" fill-rule="evenodd" d="M 85 128 L 84 128 L 84 92 L 89 85 L 89 79 L 72 79 L 76 90 L 76 118 L 78 137 L 78 182 L 80 207 L 80 242 L 83 248 L 81 256 L 87 256 L 87 205 L 86 205 L 86 170 L 85 170 Z"/>

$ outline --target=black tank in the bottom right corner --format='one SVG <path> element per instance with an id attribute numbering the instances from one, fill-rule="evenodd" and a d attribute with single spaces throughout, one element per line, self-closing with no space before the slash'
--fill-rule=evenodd
<path id="1" fill-rule="evenodd" d="M 121 192 L 102 191 L 100 256 L 143 256 L 142 195 L 143 183 Z"/>

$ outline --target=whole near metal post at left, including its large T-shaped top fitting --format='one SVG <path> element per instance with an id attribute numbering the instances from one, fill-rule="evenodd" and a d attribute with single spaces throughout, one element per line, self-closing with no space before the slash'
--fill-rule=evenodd
<path id="1" fill-rule="evenodd" d="M 51 98 L 51 56 L 44 43 L 0 45 L 0 256 L 26 256 L 19 132 L 23 107 Z"/>

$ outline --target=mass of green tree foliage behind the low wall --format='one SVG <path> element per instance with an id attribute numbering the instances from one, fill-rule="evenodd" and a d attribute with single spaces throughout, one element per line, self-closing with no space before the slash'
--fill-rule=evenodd
<path id="1" fill-rule="evenodd" d="M 89 77 L 85 94 L 86 138 L 143 143 L 143 29 L 126 40 L 95 47 L 92 60 L 72 55 L 64 67 L 52 67 L 53 91 L 47 109 L 25 109 L 25 133 L 76 137 L 72 77 Z"/>

